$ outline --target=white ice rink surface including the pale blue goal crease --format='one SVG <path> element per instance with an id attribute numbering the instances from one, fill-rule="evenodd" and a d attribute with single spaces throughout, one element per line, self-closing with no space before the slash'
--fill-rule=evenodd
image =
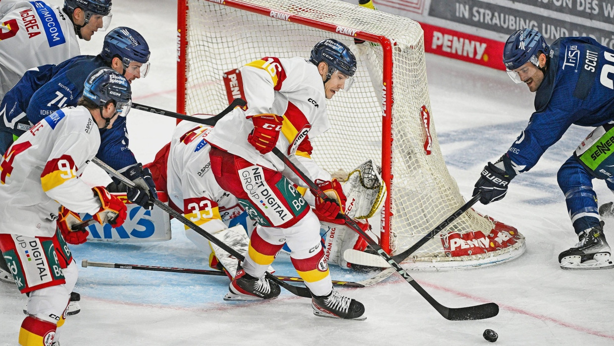
<path id="1" fill-rule="evenodd" d="M 61 2 L 55 0 L 54 2 Z M 117 1 L 112 26 L 144 34 L 152 49 L 152 71 L 133 84 L 134 101 L 175 109 L 176 1 Z M 82 44 L 95 54 L 104 33 Z M 497 159 L 526 125 L 533 95 L 501 71 L 427 55 L 433 122 L 451 174 L 470 196 L 481 167 Z M 216 111 L 216 110 L 208 110 Z M 168 141 L 174 120 L 131 111 L 130 146 L 149 162 Z M 495 302 L 497 317 L 447 321 L 410 285 L 395 276 L 383 283 L 343 292 L 367 309 L 366 321 L 314 317 L 308 299 L 286 291 L 274 301 L 228 303 L 223 277 L 80 268 L 76 291 L 82 311 L 61 328 L 69 345 L 487 345 L 486 328 L 499 333 L 497 345 L 612 345 L 614 270 L 564 271 L 559 252 L 576 242 L 556 171 L 589 132 L 572 127 L 529 173 L 516 178 L 504 200 L 476 209 L 517 227 L 527 252 L 513 262 L 457 272 L 411 275 L 449 307 Z M 600 202 L 612 200 L 596 182 Z M 612 222 L 614 224 L 614 222 Z M 607 226 L 606 226 L 607 227 Z M 146 245 L 86 243 L 71 246 L 77 262 L 125 262 L 206 268 L 181 224 L 173 240 Z M 614 232 L 605 233 L 614 239 Z M 295 275 L 289 259 L 274 265 Z M 333 278 L 360 279 L 335 269 Z M 25 296 L 0 284 L 0 345 L 17 344 Z"/>

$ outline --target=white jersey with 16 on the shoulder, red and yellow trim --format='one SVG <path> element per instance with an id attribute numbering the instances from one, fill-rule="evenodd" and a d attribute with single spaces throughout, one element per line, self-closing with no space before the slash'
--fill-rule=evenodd
<path id="1" fill-rule="evenodd" d="M 241 68 L 247 110 L 235 108 L 208 133 L 206 140 L 231 154 L 272 170 L 284 164 L 273 153 L 260 154 L 247 142 L 254 125 L 247 116 L 272 113 L 284 117 L 276 146 L 286 155 L 309 157 L 298 152 L 306 136 L 314 138 L 328 130 L 326 97 L 316 65 L 304 58 L 265 57 Z M 310 174 L 317 178 L 321 174 Z"/>

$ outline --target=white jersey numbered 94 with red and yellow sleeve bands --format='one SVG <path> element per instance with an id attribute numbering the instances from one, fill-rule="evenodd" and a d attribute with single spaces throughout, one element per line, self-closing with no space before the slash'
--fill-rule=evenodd
<path id="1" fill-rule="evenodd" d="M 51 237 L 60 205 L 98 212 L 99 198 L 77 177 L 99 146 L 84 106 L 60 109 L 21 135 L 0 160 L 0 233 Z"/>

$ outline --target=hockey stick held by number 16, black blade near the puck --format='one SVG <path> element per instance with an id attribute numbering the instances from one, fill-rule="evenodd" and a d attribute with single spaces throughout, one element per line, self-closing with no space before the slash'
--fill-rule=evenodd
<path id="1" fill-rule="evenodd" d="M 308 176 L 303 173 L 300 169 L 298 169 L 297 165 L 293 163 L 289 157 L 284 155 L 278 148 L 273 148 L 273 153 L 281 159 L 290 170 L 292 170 L 296 175 L 298 175 L 305 183 L 309 186 L 311 191 L 319 198 L 323 200 L 330 200 L 330 198 L 322 191 L 316 183 L 311 181 Z M 422 288 L 405 270 L 396 262 L 392 257 L 384 251 L 378 243 L 376 243 L 365 231 L 363 231 L 360 226 L 356 224 L 356 221 L 349 218 L 346 214 L 339 214 L 338 217 L 342 217 L 346 224 L 354 229 L 358 234 L 364 238 L 368 245 L 371 246 L 375 251 L 378 252 L 379 256 L 383 257 L 386 262 L 392 265 L 392 269 L 394 269 L 397 273 L 399 273 L 405 281 L 407 281 L 418 293 L 429 302 L 432 307 L 437 310 L 444 318 L 451 321 L 464 321 L 464 320 L 483 320 L 484 318 L 495 317 L 497 313 L 499 313 L 499 305 L 495 303 L 486 303 L 475 305 L 471 307 L 461 307 L 461 308 L 449 308 L 444 305 L 441 305 L 438 301 L 436 301 L 432 296 L 430 296 L 427 291 Z"/>

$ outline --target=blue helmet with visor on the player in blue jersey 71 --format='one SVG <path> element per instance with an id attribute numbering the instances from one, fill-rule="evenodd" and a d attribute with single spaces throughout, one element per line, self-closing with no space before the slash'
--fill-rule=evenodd
<path id="1" fill-rule="evenodd" d="M 112 29 L 104 36 L 103 51 L 100 55 L 107 61 L 116 56 L 120 57 L 124 70 L 130 65 L 130 61 L 141 63 L 141 77 L 147 76 L 149 72 L 149 45 L 141 34 L 126 26 Z"/>

